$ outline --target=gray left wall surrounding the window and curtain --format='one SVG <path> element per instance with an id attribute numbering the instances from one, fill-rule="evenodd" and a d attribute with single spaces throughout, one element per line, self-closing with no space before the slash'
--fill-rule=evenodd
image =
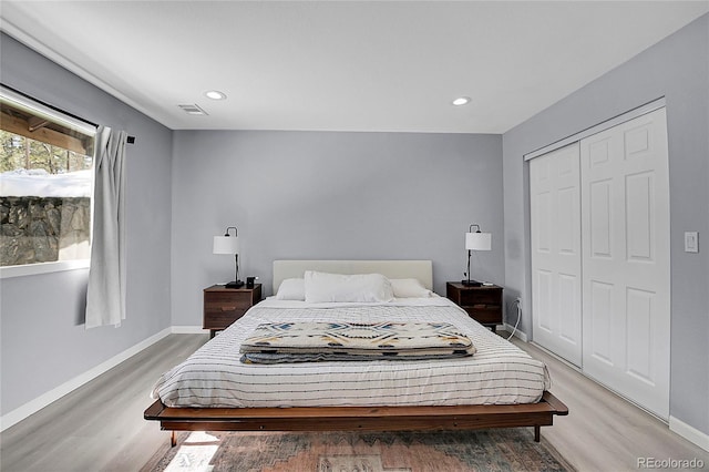
<path id="1" fill-rule="evenodd" d="M 4 34 L 0 61 L 3 84 L 137 137 L 127 150 L 127 319 L 84 329 L 85 269 L 2 279 L 7 414 L 171 326 L 172 132 Z"/>

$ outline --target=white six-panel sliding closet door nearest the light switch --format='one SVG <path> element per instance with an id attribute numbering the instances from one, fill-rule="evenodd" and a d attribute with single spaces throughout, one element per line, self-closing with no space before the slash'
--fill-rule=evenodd
<path id="1" fill-rule="evenodd" d="M 665 109 L 582 140 L 580 167 L 583 370 L 667 419 L 670 248 Z"/>

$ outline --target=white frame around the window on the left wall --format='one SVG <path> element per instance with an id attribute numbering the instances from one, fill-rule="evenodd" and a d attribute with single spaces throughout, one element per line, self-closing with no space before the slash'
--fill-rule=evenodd
<path id="1" fill-rule="evenodd" d="M 37 99 L 28 96 L 12 88 L 0 84 L 0 101 L 8 103 L 10 106 L 18 107 L 30 112 L 45 120 L 56 122 L 62 126 L 78 131 L 82 134 L 91 136 L 95 140 L 99 132 L 97 125 L 79 119 L 68 112 L 63 112 L 52 105 L 43 103 Z M 94 146 L 94 163 L 96 150 Z M 93 184 L 92 184 L 93 187 Z M 91 195 L 91 213 L 93 226 L 93 195 Z M 91 228 L 90 228 L 91 232 Z M 93 235 L 90 236 L 90 242 Z M 90 243 L 91 246 L 91 243 Z M 72 260 L 53 260 L 48 263 L 23 264 L 18 266 L 0 266 L 0 280 L 13 277 L 23 277 L 30 275 L 52 274 L 65 270 L 88 269 L 91 259 L 72 259 Z"/>

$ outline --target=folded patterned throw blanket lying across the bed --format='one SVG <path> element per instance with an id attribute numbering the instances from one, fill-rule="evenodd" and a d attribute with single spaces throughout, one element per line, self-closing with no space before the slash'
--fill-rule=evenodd
<path id="1" fill-rule="evenodd" d="M 271 322 L 240 347 L 242 362 L 425 360 L 472 356 L 475 347 L 448 322 Z"/>

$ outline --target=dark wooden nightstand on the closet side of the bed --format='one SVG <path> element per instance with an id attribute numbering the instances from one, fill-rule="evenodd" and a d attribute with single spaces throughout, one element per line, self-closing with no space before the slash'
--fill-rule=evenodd
<path id="1" fill-rule="evenodd" d="M 460 281 L 449 281 L 445 284 L 445 296 L 475 321 L 492 328 L 493 332 L 497 325 L 502 325 L 502 287 L 470 287 Z"/>

